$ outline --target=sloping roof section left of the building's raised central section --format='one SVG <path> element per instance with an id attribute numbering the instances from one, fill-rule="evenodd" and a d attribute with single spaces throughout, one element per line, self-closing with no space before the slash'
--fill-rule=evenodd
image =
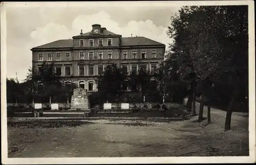
<path id="1" fill-rule="evenodd" d="M 34 48 L 70 48 L 73 46 L 73 39 L 60 39 Z M 32 48 L 32 49 L 34 49 Z"/>

